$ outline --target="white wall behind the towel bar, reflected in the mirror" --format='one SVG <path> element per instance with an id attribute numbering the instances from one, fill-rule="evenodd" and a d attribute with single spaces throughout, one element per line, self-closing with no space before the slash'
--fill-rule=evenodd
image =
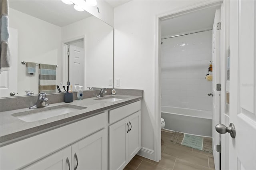
<path id="1" fill-rule="evenodd" d="M 18 95 L 26 95 L 24 90 L 38 94 L 38 65 L 36 74 L 30 75 L 21 61 L 58 65 L 60 82 L 61 28 L 12 8 L 8 17 L 10 28 L 18 30 Z"/>

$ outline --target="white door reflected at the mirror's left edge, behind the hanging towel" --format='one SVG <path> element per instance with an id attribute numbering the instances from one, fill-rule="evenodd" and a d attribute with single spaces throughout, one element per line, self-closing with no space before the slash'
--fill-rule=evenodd
<path id="1" fill-rule="evenodd" d="M 0 97 L 10 97 L 11 92 L 15 95 L 18 92 L 18 30 L 9 28 L 9 32 L 11 68 L 0 73 Z"/>

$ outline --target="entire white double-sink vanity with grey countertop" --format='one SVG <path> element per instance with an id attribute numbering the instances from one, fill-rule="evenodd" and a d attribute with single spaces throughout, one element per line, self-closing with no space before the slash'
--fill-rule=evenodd
<path id="1" fill-rule="evenodd" d="M 141 148 L 142 95 L 1 112 L 1 169 L 123 169 Z"/>

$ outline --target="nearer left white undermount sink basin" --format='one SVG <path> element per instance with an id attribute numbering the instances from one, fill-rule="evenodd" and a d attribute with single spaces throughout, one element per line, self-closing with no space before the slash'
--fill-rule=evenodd
<path id="1" fill-rule="evenodd" d="M 71 113 L 81 109 L 86 109 L 86 107 L 75 105 L 59 105 L 54 107 L 31 109 L 31 111 L 14 113 L 12 114 L 12 116 L 25 122 L 34 122 L 47 119 L 50 117 L 55 117 L 58 115 L 64 115 L 66 113 Z"/>

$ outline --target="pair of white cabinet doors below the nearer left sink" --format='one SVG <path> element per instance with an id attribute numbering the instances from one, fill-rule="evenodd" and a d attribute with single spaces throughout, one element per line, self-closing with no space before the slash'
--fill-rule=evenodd
<path id="1" fill-rule="evenodd" d="M 106 134 L 106 129 L 100 130 L 24 169 L 105 170 L 108 167 Z"/>

